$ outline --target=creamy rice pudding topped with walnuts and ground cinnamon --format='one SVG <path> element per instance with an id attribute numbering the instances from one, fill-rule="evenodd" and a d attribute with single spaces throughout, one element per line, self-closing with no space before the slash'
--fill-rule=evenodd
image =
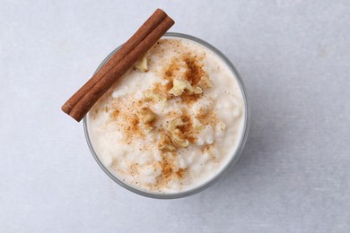
<path id="1" fill-rule="evenodd" d="M 241 88 L 220 56 L 192 40 L 160 39 L 87 116 L 92 147 L 128 186 L 176 194 L 223 171 L 245 121 Z"/>

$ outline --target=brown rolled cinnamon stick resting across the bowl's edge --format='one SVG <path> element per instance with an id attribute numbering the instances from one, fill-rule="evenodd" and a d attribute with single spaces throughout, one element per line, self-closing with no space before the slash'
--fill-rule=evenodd
<path id="1" fill-rule="evenodd" d="M 173 24 L 173 20 L 166 13 L 157 9 L 124 46 L 66 101 L 62 110 L 76 121 L 81 121 L 109 87 L 126 73 L 139 57 L 144 56 Z"/>

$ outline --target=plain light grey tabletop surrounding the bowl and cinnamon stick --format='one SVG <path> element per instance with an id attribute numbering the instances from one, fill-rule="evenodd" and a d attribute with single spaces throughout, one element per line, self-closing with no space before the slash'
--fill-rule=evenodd
<path id="1" fill-rule="evenodd" d="M 161 7 L 232 59 L 241 159 L 205 192 L 129 193 L 61 105 Z M 0 1 L 1 232 L 350 232 L 350 1 Z"/>

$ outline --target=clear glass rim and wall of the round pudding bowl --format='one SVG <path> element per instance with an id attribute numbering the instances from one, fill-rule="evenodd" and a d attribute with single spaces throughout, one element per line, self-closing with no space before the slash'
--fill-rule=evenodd
<path id="1" fill-rule="evenodd" d="M 160 193 L 147 192 L 147 191 L 138 189 L 138 188 L 136 188 L 134 186 L 129 186 L 127 183 L 124 183 L 123 181 L 118 179 L 118 177 L 114 176 L 109 171 L 109 168 L 106 168 L 103 165 L 103 163 L 101 162 L 99 156 L 96 154 L 96 152 L 94 151 L 93 146 L 92 146 L 92 141 L 91 141 L 90 136 L 89 136 L 89 129 L 88 129 L 88 124 L 87 124 L 87 116 L 85 116 L 83 118 L 83 130 L 84 130 L 86 141 L 88 143 L 90 151 L 92 151 L 93 158 L 96 160 L 96 162 L 102 168 L 102 170 L 112 180 L 114 180 L 118 185 L 125 187 L 127 190 L 129 190 L 129 191 L 131 191 L 133 193 L 144 195 L 146 197 L 151 197 L 151 198 L 156 198 L 156 199 L 174 199 L 174 198 L 185 197 L 185 196 L 192 195 L 192 194 L 197 194 L 197 193 L 203 191 L 204 189 L 206 189 L 208 186 L 213 185 L 214 182 L 216 182 L 219 178 L 223 177 L 225 174 L 228 173 L 228 171 L 233 167 L 233 165 L 240 158 L 241 151 L 243 151 L 244 144 L 247 141 L 247 137 L 248 137 L 248 133 L 249 133 L 249 114 L 250 113 L 249 113 L 249 101 L 248 101 L 248 98 L 247 98 L 247 92 L 246 92 L 244 84 L 243 84 L 243 82 L 241 80 L 241 75 L 240 75 L 240 73 L 238 73 L 237 69 L 234 67 L 232 62 L 226 56 L 224 56 L 222 52 L 220 52 L 217 48 L 215 48 L 214 46 L 210 45 L 206 41 L 204 41 L 202 39 L 197 39 L 196 37 L 193 37 L 193 36 L 190 36 L 190 35 L 187 35 L 187 34 L 182 34 L 182 33 L 177 33 L 177 32 L 168 32 L 168 33 L 165 33 L 165 35 L 163 37 L 164 38 L 169 37 L 169 38 L 188 39 L 188 40 L 192 40 L 194 42 L 197 42 L 197 43 L 199 43 L 200 45 L 202 45 L 204 47 L 209 48 L 217 56 L 221 57 L 223 62 L 226 65 L 228 65 L 228 67 L 232 70 L 232 73 L 234 74 L 234 76 L 237 78 L 237 82 L 240 85 L 241 93 L 242 93 L 243 100 L 244 100 L 244 112 L 245 112 L 244 125 L 243 125 L 243 132 L 242 132 L 242 135 L 241 135 L 241 141 L 239 142 L 237 150 L 234 152 L 234 154 L 232 155 L 231 160 L 226 164 L 226 166 L 215 177 L 211 178 L 206 183 L 204 183 L 204 184 L 202 184 L 200 186 L 194 187 L 194 188 L 192 188 L 190 190 L 181 192 L 181 193 L 177 193 L 177 194 L 160 194 Z M 117 47 L 114 51 L 112 51 L 109 54 L 109 56 L 107 56 L 102 61 L 101 65 L 104 65 L 109 60 L 110 56 L 112 56 L 118 49 L 119 49 L 119 47 Z M 99 67 L 97 68 L 96 71 L 98 71 L 101 68 L 101 65 L 99 65 Z"/>

